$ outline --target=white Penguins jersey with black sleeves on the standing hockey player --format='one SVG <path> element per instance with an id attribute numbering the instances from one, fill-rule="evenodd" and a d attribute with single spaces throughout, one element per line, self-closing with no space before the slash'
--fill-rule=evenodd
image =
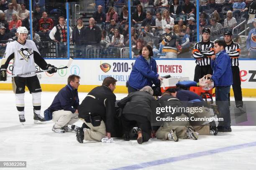
<path id="1" fill-rule="evenodd" d="M 10 42 L 5 50 L 5 54 L 1 61 L 1 67 L 6 68 L 10 60 L 13 59 L 13 75 L 24 74 L 36 71 L 35 63 L 46 70 L 47 63 L 41 57 L 37 50 L 35 42 L 26 40 L 24 45 L 18 41 Z M 20 77 L 31 77 L 36 74 L 20 75 Z"/>

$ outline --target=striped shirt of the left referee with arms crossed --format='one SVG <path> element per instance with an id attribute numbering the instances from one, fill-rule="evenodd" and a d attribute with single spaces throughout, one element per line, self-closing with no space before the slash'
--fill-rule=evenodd
<path id="1" fill-rule="evenodd" d="M 196 59 L 195 63 L 201 66 L 211 65 L 210 56 L 214 55 L 214 51 L 212 50 L 213 47 L 214 42 L 212 41 L 197 42 L 193 50 L 193 57 Z"/>

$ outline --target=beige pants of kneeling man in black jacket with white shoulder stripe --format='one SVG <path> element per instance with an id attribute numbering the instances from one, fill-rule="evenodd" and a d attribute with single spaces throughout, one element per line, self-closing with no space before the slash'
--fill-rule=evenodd
<path id="1" fill-rule="evenodd" d="M 106 136 L 106 126 L 103 120 L 100 122 L 100 126 L 94 127 L 92 123 L 87 123 L 84 119 L 81 119 L 90 129 L 84 128 L 84 140 L 100 141 Z"/>

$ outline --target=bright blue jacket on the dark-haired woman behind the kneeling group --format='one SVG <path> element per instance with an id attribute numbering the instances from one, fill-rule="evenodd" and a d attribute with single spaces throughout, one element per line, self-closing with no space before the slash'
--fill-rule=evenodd
<path id="1" fill-rule="evenodd" d="M 150 57 L 149 65 L 147 60 L 140 55 L 134 63 L 128 84 L 137 90 L 145 87 L 146 85 L 151 87 L 153 82 L 155 85 L 159 83 L 159 80 L 157 79 L 158 76 L 159 74 L 157 74 L 156 60 Z"/>

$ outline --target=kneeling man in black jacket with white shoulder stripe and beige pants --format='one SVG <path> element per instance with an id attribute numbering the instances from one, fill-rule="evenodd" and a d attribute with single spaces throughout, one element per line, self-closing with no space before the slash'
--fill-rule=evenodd
<path id="1" fill-rule="evenodd" d="M 85 123 L 85 128 L 77 128 L 77 141 L 101 141 L 102 138 L 111 138 L 114 131 L 115 117 L 115 84 L 117 80 L 106 77 L 102 86 L 95 87 L 84 98 L 78 107 L 79 118 Z"/>

